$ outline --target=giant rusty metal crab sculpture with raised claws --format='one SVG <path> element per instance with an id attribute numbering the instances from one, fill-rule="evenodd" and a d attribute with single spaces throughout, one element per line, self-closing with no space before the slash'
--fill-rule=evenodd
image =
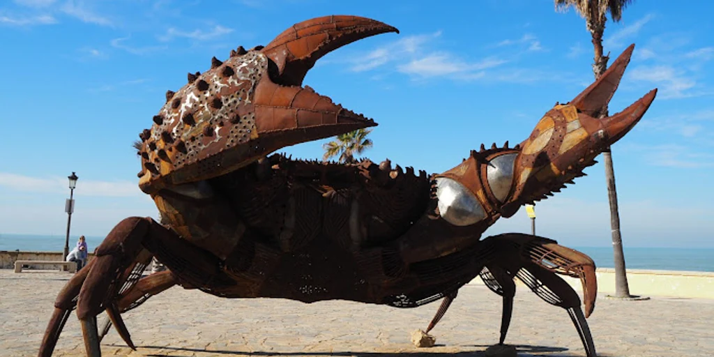
<path id="1" fill-rule="evenodd" d="M 588 356 L 595 264 L 538 236 L 481 240 L 501 216 L 583 176 L 655 98 L 651 91 L 620 114 L 599 111 L 613 96 L 633 46 L 569 104 L 556 105 L 513 148 L 481 146 L 443 174 L 427 176 L 362 161 L 293 161 L 273 151 L 376 124 L 316 94 L 303 78 L 321 56 L 397 29 L 356 16 L 304 21 L 266 47 L 239 47 L 225 62 L 188 74 L 166 94 L 143 141 L 139 186 L 169 224 L 121 221 L 56 299 L 39 351 L 50 356 L 76 308 L 86 353 L 100 356 L 96 316 L 106 311 L 134 348 L 121 313 L 174 285 L 225 298 L 344 299 L 412 308 L 444 298 L 481 276 L 503 296 L 501 341 L 518 277 L 540 298 L 567 309 Z M 155 256 L 169 271 L 142 278 Z M 580 298 L 556 274 L 583 283 Z M 107 325 L 109 326 L 109 325 Z M 104 336 L 102 331 L 101 336 Z"/>

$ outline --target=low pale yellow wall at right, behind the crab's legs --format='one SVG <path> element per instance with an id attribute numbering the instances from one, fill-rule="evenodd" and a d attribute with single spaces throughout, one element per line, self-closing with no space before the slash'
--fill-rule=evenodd
<path id="1" fill-rule="evenodd" d="M 615 293 L 615 269 L 598 268 L 595 275 L 598 277 L 598 293 Z M 576 291 L 583 291 L 580 279 L 561 277 Z M 628 269 L 627 280 L 631 295 L 714 299 L 714 273 L 711 272 Z M 483 285 L 481 278 L 473 279 L 471 283 Z M 526 288 L 518 279 L 516 285 Z"/>

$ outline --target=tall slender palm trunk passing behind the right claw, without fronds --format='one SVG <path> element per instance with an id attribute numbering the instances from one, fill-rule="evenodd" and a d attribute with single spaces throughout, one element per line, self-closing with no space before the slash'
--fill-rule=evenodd
<path id="1" fill-rule="evenodd" d="M 603 33 L 605 32 L 605 21 L 600 22 L 600 26 L 588 23 L 588 29 L 593 36 L 593 47 L 595 58 L 593 63 L 593 73 L 595 80 L 605 72 L 608 67 L 608 56 L 603 56 Z M 600 118 L 608 116 L 608 109 L 600 111 Z M 610 201 L 610 228 L 612 229 L 613 240 L 613 260 L 615 263 L 615 297 L 629 298 L 630 287 L 625 271 L 625 253 L 623 252 L 622 236 L 620 236 L 620 212 L 618 210 L 618 192 L 615 188 L 615 169 L 613 167 L 612 151 L 608 147 L 603 151 L 605 159 L 605 181 L 608 184 L 608 200 Z"/>

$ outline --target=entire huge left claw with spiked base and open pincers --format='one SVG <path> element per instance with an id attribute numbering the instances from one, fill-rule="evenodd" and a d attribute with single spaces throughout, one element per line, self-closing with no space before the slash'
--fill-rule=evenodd
<path id="1" fill-rule="evenodd" d="M 225 62 L 188 74 L 142 140 L 139 187 L 145 193 L 221 176 L 285 146 L 376 126 L 317 94 L 303 78 L 333 49 L 398 32 L 358 16 L 325 16 L 287 29 L 266 47 L 239 47 Z"/>

